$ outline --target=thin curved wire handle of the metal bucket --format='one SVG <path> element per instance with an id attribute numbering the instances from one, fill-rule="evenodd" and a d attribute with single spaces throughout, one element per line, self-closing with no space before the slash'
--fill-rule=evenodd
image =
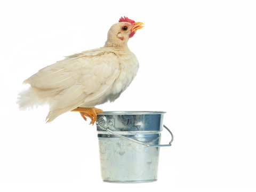
<path id="1" fill-rule="evenodd" d="M 135 143 L 139 143 L 141 145 L 145 145 L 145 146 L 148 146 L 148 147 L 170 147 L 172 145 L 172 141 L 173 141 L 173 134 L 172 132 L 164 125 L 164 128 L 171 134 L 172 136 L 172 139 L 171 141 L 169 142 L 169 144 L 166 144 L 166 145 L 150 145 L 150 144 L 147 144 L 147 143 L 144 143 L 144 142 L 141 142 L 141 141 L 137 141 L 135 139 L 131 139 L 131 138 L 127 138 L 127 137 L 124 137 L 123 135 L 121 134 L 118 134 L 114 131 L 111 131 L 110 129 L 106 128 L 105 126 L 101 125 L 98 121 L 96 122 L 96 124 L 98 124 L 102 129 L 110 132 L 110 133 L 113 133 L 114 135 L 116 135 L 117 137 L 119 138 L 123 138 L 123 139 L 126 139 L 126 140 L 130 140 L 130 141 L 133 141 Z"/>

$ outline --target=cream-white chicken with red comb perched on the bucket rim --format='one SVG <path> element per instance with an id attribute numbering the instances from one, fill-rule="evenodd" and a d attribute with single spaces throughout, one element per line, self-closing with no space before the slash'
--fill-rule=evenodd
<path id="1" fill-rule="evenodd" d="M 94 106 L 115 101 L 137 74 L 139 63 L 127 46 L 143 23 L 121 17 L 110 27 L 105 45 L 76 53 L 26 79 L 28 90 L 19 93 L 20 109 L 49 105 L 46 122 L 67 111 L 78 111 L 90 124 L 102 112 Z"/>

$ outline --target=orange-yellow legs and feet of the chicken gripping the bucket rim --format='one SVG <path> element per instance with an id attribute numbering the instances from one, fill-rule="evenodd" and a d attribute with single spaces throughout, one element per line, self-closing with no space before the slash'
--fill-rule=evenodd
<path id="1" fill-rule="evenodd" d="M 86 117 L 89 117 L 92 121 L 90 124 L 94 124 L 97 120 L 97 114 L 103 112 L 103 110 L 95 108 L 95 107 L 77 107 L 71 111 L 78 111 L 80 112 L 83 119 L 86 121 Z"/>

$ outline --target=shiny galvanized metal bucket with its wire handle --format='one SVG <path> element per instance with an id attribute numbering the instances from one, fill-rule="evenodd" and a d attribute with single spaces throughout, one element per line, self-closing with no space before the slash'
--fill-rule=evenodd
<path id="1" fill-rule="evenodd" d="M 173 135 L 163 125 L 164 111 L 109 111 L 97 116 L 101 177 L 106 182 L 157 180 L 159 147 Z M 172 139 L 159 145 L 163 126 Z"/>

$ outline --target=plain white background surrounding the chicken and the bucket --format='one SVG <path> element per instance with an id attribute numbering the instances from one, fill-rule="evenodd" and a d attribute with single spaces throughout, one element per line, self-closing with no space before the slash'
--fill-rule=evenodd
<path id="1" fill-rule="evenodd" d="M 5 1 L 0 4 L 0 191 L 253 191 L 255 1 Z M 22 81 L 64 55 L 103 46 L 122 16 L 138 75 L 108 110 L 163 110 L 174 134 L 158 181 L 101 181 L 95 125 L 47 106 L 19 111 Z M 167 132 L 162 142 L 169 141 Z"/>

